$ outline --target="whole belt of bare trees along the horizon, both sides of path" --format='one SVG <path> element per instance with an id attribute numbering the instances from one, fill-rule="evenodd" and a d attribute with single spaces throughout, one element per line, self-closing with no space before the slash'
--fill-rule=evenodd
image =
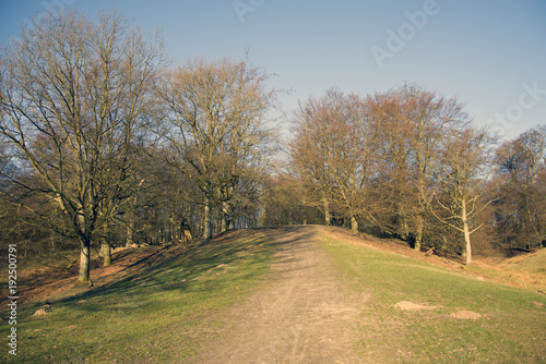
<path id="1" fill-rule="evenodd" d="M 116 13 L 41 17 L 0 53 L 1 256 L 321 223 L 415 250 L 546 245 L 546 124 L 506 141 L 415 84 L 331 88 L 276 126 L 248 60 L 174 64 Z M 365 85 L 364 85 L 365 86 Z"/>

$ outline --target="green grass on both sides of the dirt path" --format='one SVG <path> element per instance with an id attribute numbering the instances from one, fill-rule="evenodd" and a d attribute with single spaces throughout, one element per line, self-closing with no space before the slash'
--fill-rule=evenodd
<path id="1" fill-rule="evenodd" d="M 340 281 L 361 293 L 366 310 L 355 329 L 364 362 L 546 363 L 544 294 L 325 234 L 321 246 Z M 8 355 L 4 345 L 0 362 L 192 362 L 226 327 L 226 310 L 260 287 L 274 250 L 259 231 L 235 232 L 139 275 L 72 290 L 47 306 L 23 304 L 17 308 L 17 356 Z M 467 270 L 494 274 L 486 267 Z M 401 301 L 438 307 L 402 311 L 394 306 Z M 33 316 L 41 307 L 50 313 Z M 450 316 L 463 310 L 483 317 Z M 0 314 L 3 338 L 8 315 Z"/>

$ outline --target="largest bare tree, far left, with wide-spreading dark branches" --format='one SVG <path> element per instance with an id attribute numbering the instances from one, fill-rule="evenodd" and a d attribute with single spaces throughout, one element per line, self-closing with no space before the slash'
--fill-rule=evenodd
<path id="1" fill-rule="evenodd" d="M 85 282 L 97 229 L 127 197 L 133 148 L 154 107 L 161 44 L 115 13 L 96 23 L 64 13 L 34 24 L 2 53 L 0 133 L 39 177 L 24 186 L 57 204 L 80 240 Z"/>

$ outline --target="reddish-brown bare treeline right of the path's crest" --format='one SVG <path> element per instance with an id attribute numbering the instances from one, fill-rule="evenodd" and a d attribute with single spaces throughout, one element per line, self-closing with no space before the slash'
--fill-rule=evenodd
<path id="1" fill-rule="evenodd" d="M 546 125 L 500 143 L 455 98 L 415 85 L 365 97 L 330 89 L 300 104 L 287 150 L 288 172 L 268 184 L 266 223 L 317 222 L 320 210 L 322 223 L 467 263 L 471 242 L 546 242 Z"/>

